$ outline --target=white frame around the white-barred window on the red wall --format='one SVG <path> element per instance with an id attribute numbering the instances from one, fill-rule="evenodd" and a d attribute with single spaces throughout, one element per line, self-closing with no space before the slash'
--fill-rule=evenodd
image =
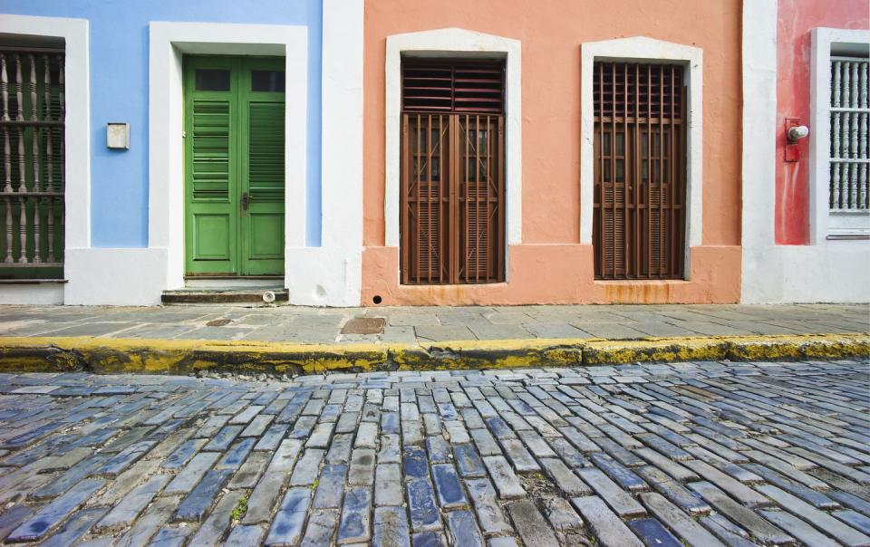
<path id="1" fill-rule="evenodd" d="M 839 53 L 845 49 L 870 48 L 870 31 L 817 27 L 812 30 L 811 43 L 809 236 L 810 245 L 825 245 L 831 243 L 828 235 L 870 234 L 870 211 L 832 215 L 829 207 L 831 51 Z M 845 222 L 838 225 L 837 216 Z"/>

